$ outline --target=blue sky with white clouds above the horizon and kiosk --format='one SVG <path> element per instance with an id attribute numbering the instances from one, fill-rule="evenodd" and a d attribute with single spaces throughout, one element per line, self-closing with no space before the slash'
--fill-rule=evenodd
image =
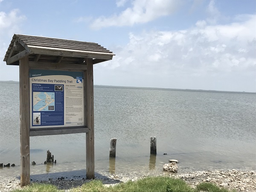
<path id="1" fill-rule="evenodd" d="M 96 85 L 256 92 L 256 0 L 0 0 L 0 81 L 14 34 L 109 49 Z"/>

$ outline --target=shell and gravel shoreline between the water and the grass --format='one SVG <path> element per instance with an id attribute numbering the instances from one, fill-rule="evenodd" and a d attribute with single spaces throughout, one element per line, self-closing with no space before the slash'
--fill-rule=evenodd
<path id="1" fill-rule="evenodd" d="M 106 186 L 110 186 L 117 183 L 125 183 L 129 180 L 136 181 L 148 176 L 168 176 L 174 178 L 183 179 L 190 186 L 195 187 L 198 183 L 211 182 L 217 186 L 224 187 L 226 189 L 235 189 L 241 192 L 256 191 L 256 172 L 254 171 L 241 171 L 241 170 L 208 170 L 208 171 L 194 171 L 186 173 L 155 173 L 148 175 L 105 175 L 104 177 L 96 177 L 97 180 L 102 180 L 102 183 Z M 49 178 L 49 180 L 31 181 L 31 183 L 47 183 L 55 185 L 58 189 L 64 191 L 70 191 L 72 188 L 81 186 L 83 183 L 90 182 L 91 180 L 85 180 L 80 176 L 74 176 L 73 179 L 64 178 L 56 179 Z M 0 178 L 0 192 L 12 191 L 14 189 L 20 189 L 20 180 L 15 177 Z"/>

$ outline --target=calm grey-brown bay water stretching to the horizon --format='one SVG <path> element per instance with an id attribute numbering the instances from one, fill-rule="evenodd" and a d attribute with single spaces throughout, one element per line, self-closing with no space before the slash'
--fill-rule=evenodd
<path id="1" fill-rule="evenodd" d="M 95 172 L 256 169 L 256 94 L 134 87 L 94 87 Z M 0 81 L 0 176 L 20 175 L 19 83 Z M 116 160 L 109 159 L 116 137 Z M 157 156 L 150 156 L 157 137 Z M 49 149 L 56 165 L 44 165 Z M 167 153 L 167 155 L 163 155 Z M 30 137 L 31 177 L 85 175 L 85 134 Z"/>

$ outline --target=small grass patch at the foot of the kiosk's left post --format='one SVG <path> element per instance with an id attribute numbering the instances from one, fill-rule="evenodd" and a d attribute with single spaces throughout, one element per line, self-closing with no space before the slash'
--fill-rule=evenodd
<path id="1" fill-rule="evenodd" d="M 32 183 L 22 189 L 15 189 L 13 192 L 59 192 L 59 190 L 50 184 Z"/>

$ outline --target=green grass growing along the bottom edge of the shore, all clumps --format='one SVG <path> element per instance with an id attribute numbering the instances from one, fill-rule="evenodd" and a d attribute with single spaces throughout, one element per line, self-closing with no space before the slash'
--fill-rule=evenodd
<path id="1" fill-rule="evenodd" d="M 56 186 L 49 184 L 31 184 L 15 192 L 61 192 Z M 92 180 L 81 187 L 71 189 L 72 192 L 230 192 L 212 183 L 200 183 L 196 189 L 185 181 L 172 177 L 145 177 L 137 181 L 128 181 L 106 187 L 101 180 Z"/>

